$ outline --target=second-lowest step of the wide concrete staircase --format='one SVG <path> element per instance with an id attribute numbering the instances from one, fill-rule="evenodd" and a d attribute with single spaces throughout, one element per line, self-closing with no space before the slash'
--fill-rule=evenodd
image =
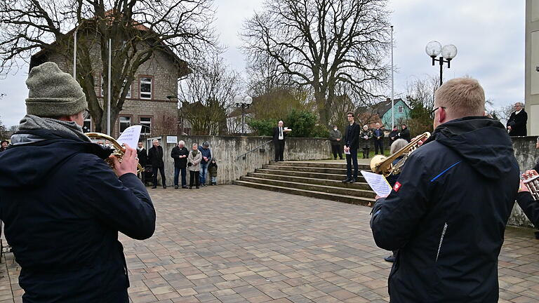
<path id="1" fill-rule="evenodd" d="M 317 185 L 317 184 L 307 184 L 300 182 L 288 182 L 283 180 L 272 180 L 272 179 L 262 179 L 258 177 L 241 177 L 241 181 L 248 181 L 259 184 L 269 184 L 277 187 L 292 187 L 295 189 L 305 189 L 308 191 L 320 191 L 328 194 L 342 194 L 345 196 L 357 196 L 357 197 L 366 197 L 374 198 L 375 194 L 373 191 L 365 189 L 352 189 L 352 188 L 342 188 L 342 187 L 331 187 L 326 185 Z"/>

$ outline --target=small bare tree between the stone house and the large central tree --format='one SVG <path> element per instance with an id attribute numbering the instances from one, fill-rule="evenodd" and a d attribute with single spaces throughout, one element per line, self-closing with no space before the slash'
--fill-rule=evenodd
<path id="1" fill-rule="evenodd" d="M 180 84 L 182 114 L 196 135 L 220 135 L 227 128 L 227 112 L 241 92 L 241 76 L 222 58 L 201 60 Z"/>

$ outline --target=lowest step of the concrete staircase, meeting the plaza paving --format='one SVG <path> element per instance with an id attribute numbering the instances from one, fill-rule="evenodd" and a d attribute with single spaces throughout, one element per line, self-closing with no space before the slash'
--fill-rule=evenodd
<path id="1" fill-rule="evenodd" d="M 329 194 L 329 193 L 320 192 L 320 191 L 295 189 L 291 187 L 279 187 L 279 186 L 270 185 L 270 184 L 260 184 L 260 183 L 255 183 L 255 182 L 242 181 L 242 180 L 236 180 L 234 181 L 234 184 L 242 185 L 246 187 L 253 187 L 257 189 L 279 191 L 279 192 L 284 192 L 286 194 L 297 194 L 300 196 L 310 196 L 312 198 L 321 198 L 321 199 L 326 199 L 330 201 L 339 201 L 339 202 L 344 202 L 344 203 L 358 204 L 362 206 L 367 206 L 369 203 L 375 202 L 374 198 L 347 196 L 347 195 L 342 195 L 342 194 Z"/>

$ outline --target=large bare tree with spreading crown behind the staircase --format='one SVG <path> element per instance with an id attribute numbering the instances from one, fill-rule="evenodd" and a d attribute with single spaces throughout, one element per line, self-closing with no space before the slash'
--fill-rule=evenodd
<path id="1" fill-rule="evenodd" d="M 248 60 L 271 58 L 277 74 L 310 88 L 328 125 L 335 88 L 373 95 L 385 83 L 386 0 L 267 0 L 242 33 Z"/>

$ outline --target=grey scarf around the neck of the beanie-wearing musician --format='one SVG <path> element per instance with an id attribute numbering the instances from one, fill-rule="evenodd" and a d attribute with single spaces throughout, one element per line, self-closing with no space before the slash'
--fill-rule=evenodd
<path id="1" fill-rule="evenodd" d="M 78 137 L 84 142 L 92 142 L 89 137 L 84 135 L 82 132 L 81 126 L 75 123 L 74 121 L 60 121 L 51 118 L 41 118 L 39 116 L 27 114 L 20 121 L 19 130 L 53 130 L 62 133 L 67 133 L 69 135 Z"/>

